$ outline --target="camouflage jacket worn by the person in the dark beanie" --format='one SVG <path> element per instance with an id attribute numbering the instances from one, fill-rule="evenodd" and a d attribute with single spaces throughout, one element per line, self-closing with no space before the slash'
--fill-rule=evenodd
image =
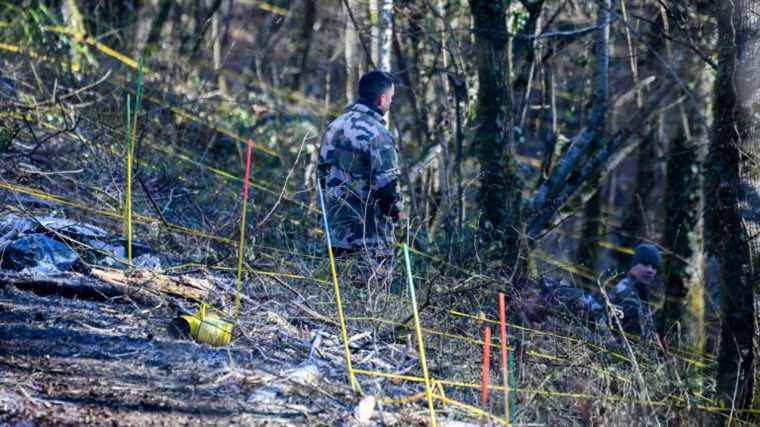
<path id="1" fill-rule="evenodd" d="M 654 336 L 647 285 L 626 276 L 610 292 L 610 302 L 622 310 L 621 323 L 626 332 L 647 338 Z"/>

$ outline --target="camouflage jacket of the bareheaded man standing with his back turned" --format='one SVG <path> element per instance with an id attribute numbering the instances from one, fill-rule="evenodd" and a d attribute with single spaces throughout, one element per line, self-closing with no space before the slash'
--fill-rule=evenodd
<path id="1" fill-rule="evenodd" d="M 383 117 L 350 106 L 322 135 L 317 168 L 332 245 L 392 254 L 401 211 L 398 153 Z"/>

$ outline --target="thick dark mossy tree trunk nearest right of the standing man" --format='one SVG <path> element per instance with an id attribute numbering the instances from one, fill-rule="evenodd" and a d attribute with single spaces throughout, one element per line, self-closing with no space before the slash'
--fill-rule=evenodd
<path id="1" fill-rule="evenodd" d="M 519 267 L 522 186 L 513 153 L 514 118 L 507 85 L 510 61 L 505 14 L 509 5 L 505 0 L 470 1 L 478 71 L 473 144 L 481 169 L 481 238 L 492 254 L 504 255 L 508 267 Z"/>

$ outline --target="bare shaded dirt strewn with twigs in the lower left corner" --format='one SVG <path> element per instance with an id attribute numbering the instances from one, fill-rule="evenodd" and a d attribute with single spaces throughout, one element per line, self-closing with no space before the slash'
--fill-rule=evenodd
<path id="1" fill-rule="evenodd" d="M 172 339 L 165 325 L 173 315 L 3 286 L 0 422 L 310 424 L 350 416 L 350 405 L 281 375 L 295 360 L 276 364 L 238 345 Z"/>

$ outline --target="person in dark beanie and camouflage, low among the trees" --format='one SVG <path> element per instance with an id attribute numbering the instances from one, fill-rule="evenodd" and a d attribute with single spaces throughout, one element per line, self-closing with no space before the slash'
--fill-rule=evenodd
<path id="1" fill-rule="evenodd" d="M 656 338 L 649 285 L 657 275 L 660 261 L 656 246 L 637 246 L 628 274 L 610 292 L 610 302 L 623 313 L 621 324 L 626 332 Z"/>

